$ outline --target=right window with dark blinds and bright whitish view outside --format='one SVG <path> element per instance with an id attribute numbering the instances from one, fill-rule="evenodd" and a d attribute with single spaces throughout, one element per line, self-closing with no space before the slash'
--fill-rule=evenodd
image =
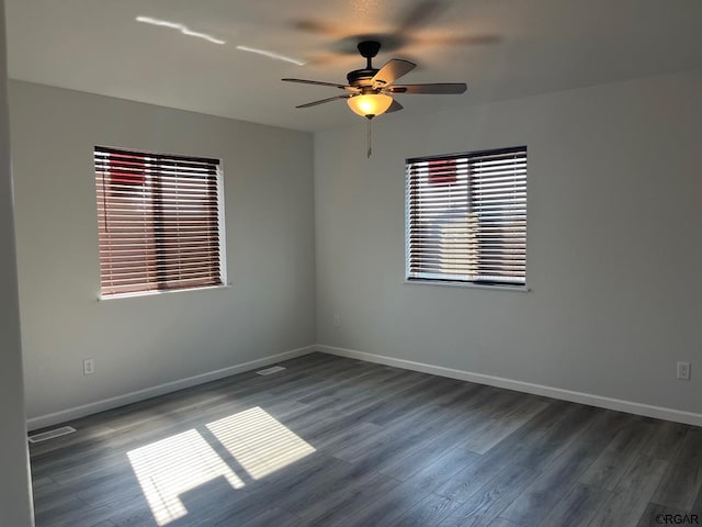
<path id="1" fill-rule="evenodd" d="M 408 159 L 407 280 L 524 285 L 526 147 Z"/>

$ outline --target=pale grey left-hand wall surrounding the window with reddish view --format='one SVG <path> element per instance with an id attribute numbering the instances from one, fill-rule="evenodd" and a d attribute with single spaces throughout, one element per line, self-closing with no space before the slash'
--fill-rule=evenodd
<path id="1" fill-rule="evenodd" d="M 18 81 L 10 114 L 30 419 L 314 344 L 312 135 Z M 229 289 L 97 301 L 94 145 L 223 160 Z"/>

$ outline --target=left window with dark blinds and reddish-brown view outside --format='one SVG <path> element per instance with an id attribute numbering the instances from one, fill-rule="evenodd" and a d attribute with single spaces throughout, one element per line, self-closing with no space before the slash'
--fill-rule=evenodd
<path id="1" fill-rule="evenodd" d="M 102 296 L 225 281 L 217 159 L 94 149 Z"/>

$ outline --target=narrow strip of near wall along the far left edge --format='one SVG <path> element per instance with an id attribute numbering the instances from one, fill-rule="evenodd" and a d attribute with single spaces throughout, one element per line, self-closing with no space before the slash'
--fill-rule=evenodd
<path id="1" fill-rule="evenodd" d="M 34 525 L 12 211 L 4 2 L 0 0 L 0 525 Z"/>

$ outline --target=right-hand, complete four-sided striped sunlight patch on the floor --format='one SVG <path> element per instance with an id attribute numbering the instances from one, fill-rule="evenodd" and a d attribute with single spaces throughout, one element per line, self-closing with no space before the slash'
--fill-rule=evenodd
<path id="1" fill-rule="evenodd" d="M 211 423 L 207 428 L 254 480 L 315 451 L 259 406 Z"/>

